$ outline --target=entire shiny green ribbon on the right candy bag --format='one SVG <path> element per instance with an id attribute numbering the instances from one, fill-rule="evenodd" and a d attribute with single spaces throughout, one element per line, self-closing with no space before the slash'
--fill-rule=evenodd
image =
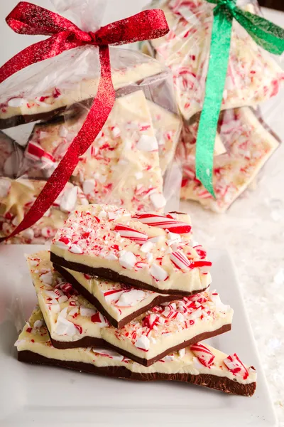
<path id="1" fill-rule="evenodd" d="M 214 144 L 229 63 L 233 19 L 246 29 L 258 46 L 275 55 L 284 52 L 284 29 L 261 16 L 241 10 L 236 6 L 236 0 L 207 1 L 217 6 L 213 10 L 205 97 L 197 133 L 196 176 L 214 196 L 212 181 Z M 218 79 L 216 79 L 217 71 Z"/>

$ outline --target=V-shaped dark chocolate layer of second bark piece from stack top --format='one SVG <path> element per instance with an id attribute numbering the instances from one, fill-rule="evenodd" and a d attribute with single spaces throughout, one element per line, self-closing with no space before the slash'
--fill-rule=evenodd
<path id="1" fill-rule="evenodd" d="M 99 312 L 102 313 L 102 315 L 107 317 L 107 320 L 109 320 L 109 323 L 111 325 L 113 325 L 114 327 L 116 327 L 118 329 L 121 327 L 124 327 L 124 325 L 126 325 L 126 323 L 130 322 L 131 320 L 135 319 L 136 317 L 142 315 L 147 310 L 151 309 L 151 307 L 155 307 L 155 305 L 159 305 L 162 302 L 170 302 L 173 300 L 179 300 L 181 298 L 180 295 L 158 295 L 157 297 L 154 298 L 154 300 L 152 302 L 150 302 L 150 304 L 144 305 L 139 310 L 136 310 L 135 312 L 131 313 L 131 315 L 128 315 L 128 316 L 124 317 L 124 319 L 117 321 L 116 319 L 114 319 L 114 317 L 111 317 L 111 315 L 107 312 L 107 310 L 104 309 L 104 307 L 99 302 L 99 300 L 97 300 L 97 298 L 94 295 L 92 295 L 86 288 L 84 288 L 84 286 L 82 286 L 72 276 L 72 274 L 68 273 L 67 270 L 65 270 L 65 268 L 62 268 L 62 267 L 60 267 L 60 265 L 56 265 L 56 264 L 53 264 L 53 267 L 55 268 L 55 270 L 58 271 L 58 273 L 60 273 L 62 275 L 63 278 L 65 278 L 65 280 L 67 280 L 67 282 L 71 283 L 73 288 L 75 288 L 81 295 L 83 295 L 83 297 L 86 298 L 87 301 L 91 302 L 91 304 L 94 305 L 94 307 L 96 307 L 97 310 L 99 310 Z"/>

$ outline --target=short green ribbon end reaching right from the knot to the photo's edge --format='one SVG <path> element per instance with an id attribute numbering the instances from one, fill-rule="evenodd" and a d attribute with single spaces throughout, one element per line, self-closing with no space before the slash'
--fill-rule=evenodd
<path id="1" fill-rule="evenodd" d="M 284 30 L 262 16 L 253 15 L 236 7 L 234 18 L 249 33 L 251 38 L 270 53 L 281 55 L 284 52 Z"/>

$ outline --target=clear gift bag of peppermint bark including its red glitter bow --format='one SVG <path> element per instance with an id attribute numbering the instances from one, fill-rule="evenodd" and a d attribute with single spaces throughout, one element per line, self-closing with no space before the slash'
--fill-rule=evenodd
<path id="1" fill-rule="evenodd" d="M 145 11 L 100 28 L 101 3 L 54 0 L 69 21 L 22 2 L 6 19 L 18 33 L 50 36 L 0 70 L 0 223 L 9 243 L 50 241 L 80 204 L 163 212 L 177 197 L 182 120 L 172 73 L 109 46 L 163 36 L 165 16 Z"/>

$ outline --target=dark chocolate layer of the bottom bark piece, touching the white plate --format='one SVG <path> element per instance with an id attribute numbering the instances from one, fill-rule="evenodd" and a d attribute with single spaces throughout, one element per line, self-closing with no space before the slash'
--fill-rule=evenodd
<path id="1" fill-rule="evenodd" d="M 252 396 L 256 390 L 256 383 L 239 384 L 224 376 L 216 376 L 210 374 L 138 374 L 133 373 L 125 367 L 95 367 L 92 364 L 84 362 L 61 361 L 58 359 L 49 359 L 34 352 L 24 350 L 18 352 L 18 360 L 29 364 L 44 364 L 67 369 L 75 369 L 76 371 L 87 372 L 90 374 L 98 374 L 103 376 L 111 376 L 121 379 L 131 379 L 134 381 L 182 381 L 197 386 L 204 386 L 209 389 L 224 391 L 229 394 L 239 394 L 241 396 Z"/>

